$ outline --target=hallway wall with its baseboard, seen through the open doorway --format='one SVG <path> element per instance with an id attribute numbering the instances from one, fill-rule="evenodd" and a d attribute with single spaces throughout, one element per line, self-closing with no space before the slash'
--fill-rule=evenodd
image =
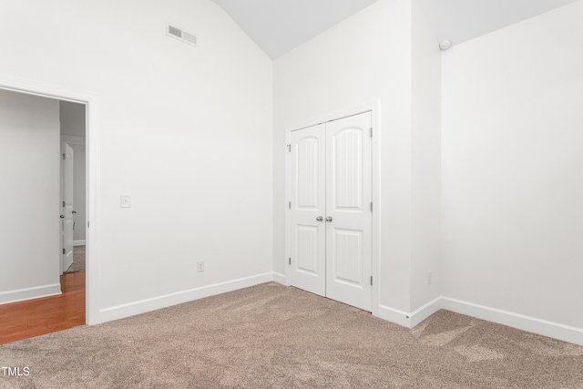
<path id="1" fill-rule="evenodd" d="M 0 303 L 60 293 L 58 101 L 0 89 Z"/>

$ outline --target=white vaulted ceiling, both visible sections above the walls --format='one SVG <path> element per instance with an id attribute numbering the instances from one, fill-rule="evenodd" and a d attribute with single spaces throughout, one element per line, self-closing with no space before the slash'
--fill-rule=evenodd
<path id="1" fill-rule="evenodd" d="M 282 56 L 377 0 L 213 0 L 271 58 Z M 580 0 L 417 1 L 436 39 L 454 45 Z"/>

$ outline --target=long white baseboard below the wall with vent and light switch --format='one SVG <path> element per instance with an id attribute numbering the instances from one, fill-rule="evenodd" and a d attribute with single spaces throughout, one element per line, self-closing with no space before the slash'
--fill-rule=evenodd
<path id="1" fill-rule="evenodd" d="M 193 300 L 199 300 L 204 297 L 214 296 L 215 294 L 232 292 L 238 289 L 247 288 L 250 286 L 258 285 L 260 283 L 271 281 L 273 281 L 273 273 L 268 272 L 252 277 L 241 278 L 239 280 L 215 283 L 212 285 L 189 289 L 187 291 L 152 297 L 150 299 L 140 300 L 138 302 L 128 302 L 126 304 L 103 308 L 98 312 L 96 324 L 123 319 L 125 317 L 134 316 L 139 313 L 156 311 L 161 308 L 167 308 L 169 306 L 181 304 L 183 302 L 191 302 Z"/>

